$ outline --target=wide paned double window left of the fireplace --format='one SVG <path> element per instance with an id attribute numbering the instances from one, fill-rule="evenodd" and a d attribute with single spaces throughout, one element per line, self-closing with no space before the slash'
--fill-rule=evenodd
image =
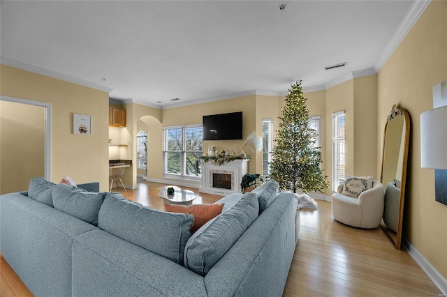
<path id="1" fill-rule="evenodd" d="M 196 160 L 203 155 L 200 125 L 163 129 L 163 175 L 200 177 Z"/>

